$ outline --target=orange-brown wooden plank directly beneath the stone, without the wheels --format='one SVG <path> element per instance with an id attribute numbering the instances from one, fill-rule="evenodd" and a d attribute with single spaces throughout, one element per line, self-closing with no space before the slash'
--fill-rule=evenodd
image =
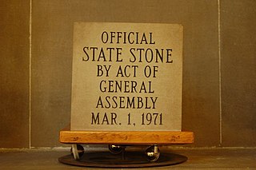
<path id="1" fill-rule="evenodd" d="M 190 144 L 194 132 L 91 132 L 62 130 L 65 144 Z"/>

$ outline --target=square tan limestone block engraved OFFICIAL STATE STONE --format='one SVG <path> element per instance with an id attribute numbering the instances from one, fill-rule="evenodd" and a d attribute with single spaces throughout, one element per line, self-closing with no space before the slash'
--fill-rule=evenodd
<path id="1" fill-rule="evenodd" d="M 75 22 L 71 130 L 181 131 L 182 31 Z"/>

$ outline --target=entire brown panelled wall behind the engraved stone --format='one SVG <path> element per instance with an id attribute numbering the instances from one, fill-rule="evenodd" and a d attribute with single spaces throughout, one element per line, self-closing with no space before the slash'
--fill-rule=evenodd
<path id="1" fill-rule="evenodd" d="M 74 22 L 182 24 L 182 129 L 195 133 L 189 146 L 255 147 L 255 16 L 254 0 L 3 0 L 0 148 L 62 145 Z"/>

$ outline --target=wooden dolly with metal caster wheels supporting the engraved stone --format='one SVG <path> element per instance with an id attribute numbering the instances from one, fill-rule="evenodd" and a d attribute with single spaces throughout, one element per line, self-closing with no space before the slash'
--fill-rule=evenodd
<path id="1" fill-rule="evenodd" d="M 60 131 L 59 141 L 72 144 L 75 160 L 79 160 L 84 152 L 80 144 L 109 144 L 113 153 L 122 152 L 127 145 L 146 144 L 151 145 L 146 149 L 148 160 L 156 161 L 160 155 L 158 144 L 191 144 L 194 142 L 194 132 L 71 131 L 68 127 Z"/>

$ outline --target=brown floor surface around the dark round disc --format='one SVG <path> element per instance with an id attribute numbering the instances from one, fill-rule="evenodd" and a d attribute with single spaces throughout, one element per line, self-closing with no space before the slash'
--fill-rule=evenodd
<path id="1" fill-rule="evenodd" d="M 86 148 L 87 151 L 87 148 Z M 159 168 L 136 169 L 256 169 L 256 148 L 173 148 L 188 157 L 182 164 Z M 69 148 L 0 150 L 0 169 L 107 169 L 82 168 L 58 162 L 58 157 L 70 154 Z"/>

